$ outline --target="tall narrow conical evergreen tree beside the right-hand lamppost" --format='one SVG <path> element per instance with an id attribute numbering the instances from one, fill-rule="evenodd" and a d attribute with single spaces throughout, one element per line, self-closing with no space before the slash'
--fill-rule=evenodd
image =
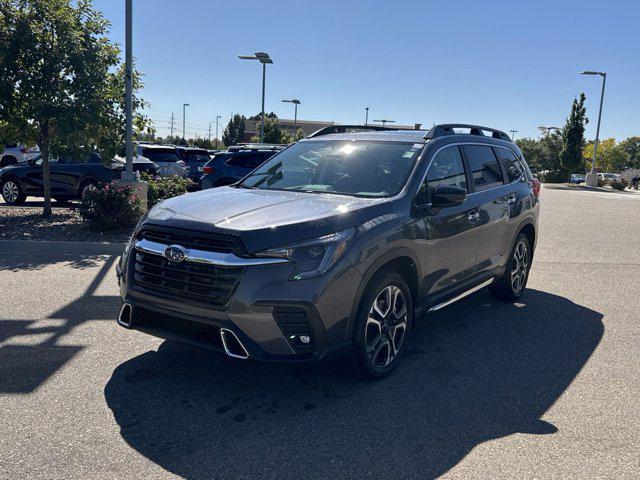
<path id="1" fill-rule="evenodd" d="M 584 127 L 589 123 L 584 93 L 580 98 L 573 99 L 571 114 L 562 129 L 562 150 L 560 152 L 560 171 L 562 176 L 569 177 L 571 173 L 583 171 L 582 149 L 584 148 Z"/>

